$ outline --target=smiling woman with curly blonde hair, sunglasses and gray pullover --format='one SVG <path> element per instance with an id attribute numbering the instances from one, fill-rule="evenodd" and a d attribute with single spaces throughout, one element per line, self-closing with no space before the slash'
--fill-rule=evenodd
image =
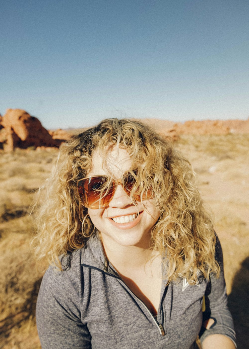
<path id="1" fill-rule="evenodd" d="M 148 126 L 106 119 L 63 144 L 38 226 L 36 253 L 57 267 L 37 300 L 43 349 L 194 348 L 198 335 L 235 348 L 193 170 Z"/>

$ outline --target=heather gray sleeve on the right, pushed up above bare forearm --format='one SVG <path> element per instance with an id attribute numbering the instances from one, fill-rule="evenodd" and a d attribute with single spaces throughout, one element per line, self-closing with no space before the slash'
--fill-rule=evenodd
<path id="1" fill-rule="evenodd" d="M 216 243 L 216 260 L 220 265 L 220 276 L 210 275 L 209 283 L 205 292 L 205 311 L 203 321 L 212 318 L 214 324 L 205 329 L 202 327 L 199 334 L 201 343 L 211 334 L 222 334 L 231 339 L 236 346 L 236 337 L 233 326 L 232 315 L 227 306 L 226 284 L 224 279 L 222 249 L 218 237 Z"/>

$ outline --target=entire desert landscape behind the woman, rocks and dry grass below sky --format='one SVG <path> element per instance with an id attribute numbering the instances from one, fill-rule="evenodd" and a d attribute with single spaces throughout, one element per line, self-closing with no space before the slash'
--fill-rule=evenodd
<path id="1" fill-rule="evenodd" d="M 80 131 L 47 131 L 39 128 L 38 119 L 19 109 L 10 109 L 6 115 L 0 117 L 0 348 L 38 349 L 41 347 L 35 306 L 42 273 L 36 270 L 30 248 L 30 240 L 36 233 L 30 205 L 52 170 L 59 144 Z M 249 343 L 249 120 L 184 124 L 144 121 L 170 137 L 193 165 L 223 248 L 228 304 L 234 318 L 237 346 L 246 349 Z M 36 137 L 38 129 L 44 139 Z"/>

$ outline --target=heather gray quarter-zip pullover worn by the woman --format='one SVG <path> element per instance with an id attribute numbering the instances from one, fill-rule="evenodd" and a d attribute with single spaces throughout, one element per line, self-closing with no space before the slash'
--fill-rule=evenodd
<path id="1" fill-rule="evenodd" d="M 199 274 L 196 285 L 188 285 L 181 277 L 168 287 L 163 282 L 158 314 L 153 318 L 108 263 L 98 236 L 91 237 L 87 248 L 63 258 L 66 270 L 50 267 L 43 277 L 36 307 L 42 348 L 194 348 L 202 326 L 203 295 L 204 317 L 211 316 L 217 323 L 201 331 L 201 341 L 220 333 L 235 343 L 219 243 L 217 251 L 220 278 L 211 277 L 207 283 Z"/>

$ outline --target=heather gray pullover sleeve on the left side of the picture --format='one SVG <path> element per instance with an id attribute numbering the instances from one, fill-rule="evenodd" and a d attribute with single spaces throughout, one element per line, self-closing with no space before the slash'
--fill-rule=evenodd
<path id="1" fill-rule="evenodd" d="M 40 286 L 36 322 L 42 349 L 90 349 L 91 335 L 81 321 L 80 296 L 67 271 L 50 267 Z"/>

